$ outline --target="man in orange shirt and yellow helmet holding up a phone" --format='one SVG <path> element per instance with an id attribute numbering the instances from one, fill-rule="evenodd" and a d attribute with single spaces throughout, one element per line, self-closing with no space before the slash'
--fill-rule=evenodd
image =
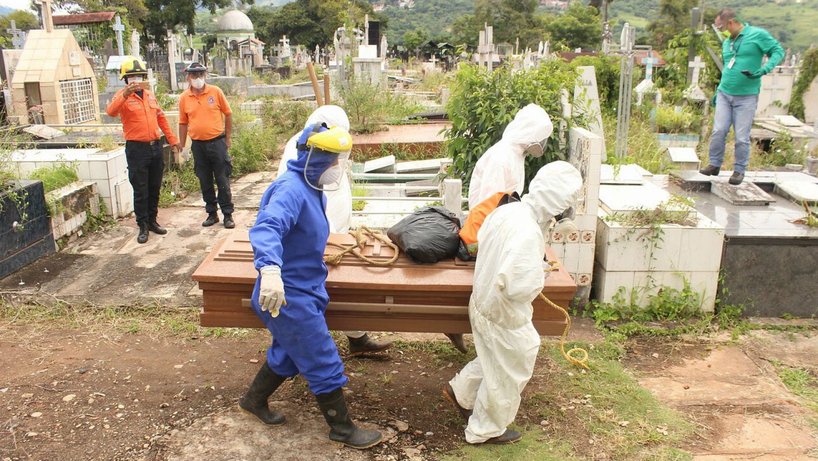
<path id="1" fill-rule="evenodd" d="M 127 86 L 116 93 L 106 110 L 111 117 L 119 115 L 122 120 L 128 181 L 133 186 L 133 214 L 137 217 L 140 244 L 148 240 L 149 230 L 159 235 L 168 233 L 156 222 L 164 171 L 160 130 L 174 151 L 182 149 L 156 96 L 147 89 L 147 77 L 145 63 L 127 56 L 119 68 L 119 78 L 124 79 Z"/>

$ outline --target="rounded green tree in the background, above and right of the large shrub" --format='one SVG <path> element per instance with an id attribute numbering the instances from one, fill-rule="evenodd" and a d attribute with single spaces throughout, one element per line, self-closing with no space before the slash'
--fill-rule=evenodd
<path id="1" fill-rule="evenodd" d="M 573 2 L 563 16 L 546 20 L 551 39 L 571 49 L 597 49 L 602 43 L 602 20 L 595 7 Z"/>

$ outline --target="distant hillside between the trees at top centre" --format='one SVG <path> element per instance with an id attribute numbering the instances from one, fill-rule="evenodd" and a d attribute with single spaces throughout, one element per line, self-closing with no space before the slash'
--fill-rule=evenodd
<path id="1" fill-rule="evenodd" d="M 457 18 L 474 13 L 474 0 L 415 0 L 412 8 L 399 7 L 398 2 L 385 3 L 383 13 L 389 17 L 386 38 L 390 45 L 402 43 L 403 34 L 417 28 L 426 29 L 429 38 L 447 36 Z"/>

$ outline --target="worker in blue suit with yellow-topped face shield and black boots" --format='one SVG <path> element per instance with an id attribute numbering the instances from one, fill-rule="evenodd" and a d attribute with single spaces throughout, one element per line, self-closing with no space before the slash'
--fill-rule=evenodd
<path id="1" fill-rule="evenodd" d="M 315 123 L 298 140 L 298 158 L 264 192 L 249 231 L 258 280 L 252 307 L 272 333 L 267 360 L 239 407 L 276 426 L 284 415 L 267 399 L 286 378 L 301 374 L 330 426 L 330 440 L 363 449 L 380 442 L 380 432 L 357 427 L 349 417 L 342 387 L 347 383 L 324 311 L 330 227 L 324 190 L 337 189 L 352 137 L 342 128 Z"/>

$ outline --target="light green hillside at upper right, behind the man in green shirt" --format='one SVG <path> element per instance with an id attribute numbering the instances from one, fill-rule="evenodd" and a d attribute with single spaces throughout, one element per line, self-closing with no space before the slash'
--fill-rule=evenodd
<path id="1" fill-rule="evenodd" d="M 615 0 L 608 11 L 613 24 L 627 21 L 644 30 L 658 16 L 658 6 L 658 0 Z M 718 7 L 735 8 L 741 18 L 769 30 L 793 51 L 818 44 L 818 0 L 722 0 Z"/>

